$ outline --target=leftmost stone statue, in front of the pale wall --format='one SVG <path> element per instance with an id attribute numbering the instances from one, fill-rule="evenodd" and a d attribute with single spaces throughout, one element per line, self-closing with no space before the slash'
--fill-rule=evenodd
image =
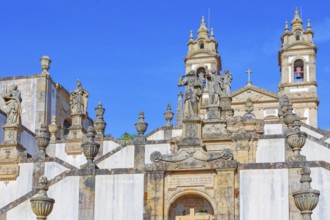
<path id="1" fill-rule="evenodd" d="M 17 85 L 13 85 L 9 93 L 2 95 L 6 104 L 7 125 L 19 125 L 21 123 L 21 92 Z"/>

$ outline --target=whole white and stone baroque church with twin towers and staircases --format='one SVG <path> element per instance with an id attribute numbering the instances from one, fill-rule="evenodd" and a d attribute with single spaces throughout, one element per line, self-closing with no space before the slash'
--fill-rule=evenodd
<path id="1" fill-rule="evenodd" d="M 175 114 L 168 106 L 166 124 L 145 133 L 141 112 L 133 140 L 106 136 L 102 103 L 92 119 L 88 91 L 54 82 L 47 56 L 40 74 L 0 79 L 0 220 L 330 219 L 313 35 L 296 9 L 278 93 L 250 80 L 231 91 L 202 18 Z"/>

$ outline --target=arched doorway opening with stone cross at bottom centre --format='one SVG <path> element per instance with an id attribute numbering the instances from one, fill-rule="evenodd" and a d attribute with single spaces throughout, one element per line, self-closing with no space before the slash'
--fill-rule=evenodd
<path id="1" fill-rule="evenodd" d="M 169 209 L 168 220 L 214 220 L 211 203 L 204 197 L 188 194 L 176 199 Z"/>

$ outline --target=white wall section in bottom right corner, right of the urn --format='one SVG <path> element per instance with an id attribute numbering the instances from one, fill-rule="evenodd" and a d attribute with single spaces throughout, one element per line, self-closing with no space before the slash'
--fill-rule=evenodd
<path id="1" fill-rule="evenodd" d="M 320 191 L 319 203 L 313 210 L 313 220 L 330 219 L 330 171 L 324 168 L 311 168 L 313 189 Z"/>

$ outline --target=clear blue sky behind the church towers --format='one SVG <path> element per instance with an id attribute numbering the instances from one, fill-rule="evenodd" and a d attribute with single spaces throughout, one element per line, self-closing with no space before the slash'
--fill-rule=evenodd
<path id="1" fill-rule="evenodd" d="M 251 67 L 254 85 L 277 92 L 280 36 L 296 6 L 315 32 L 319 126 L 330 129 L 329 1 L 2 1 L 0 77 L 39 73 L 39 58 L 48 55 L 56 82 L 73 90 L 80 79 L 89 91 L 92 118 L 103 102 L 106 133 L 135 133 L 141 110 L 150 132 L 164 125 L 167 103 L 175 112 L 189 31 L 196 36 L 202 15 L 208 22 L 210 9 L 232 89 L 245 85 Z"/>

